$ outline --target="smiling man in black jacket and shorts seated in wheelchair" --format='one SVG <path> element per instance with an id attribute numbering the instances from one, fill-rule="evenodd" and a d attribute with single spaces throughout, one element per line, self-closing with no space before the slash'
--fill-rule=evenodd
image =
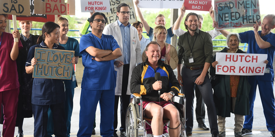
<path id="1" fill-rule="evenodd" d="M 180 116 L 177 108 L 168 100 L 179 93 L 180 85 L 172 68 L 160 60 L 160 45 L 152 41 L 145 50 L 148 58 L 137 65 L 132 72 L 131 93 L 141 94 L 143 114 L 152 118 L 154 137 L 162 137 L 163 119 L 170 120 L 169 136 L 177 137 L 181 130 Z M 160 73 L 159 81 L 155 79 L 156 72 Z"/>

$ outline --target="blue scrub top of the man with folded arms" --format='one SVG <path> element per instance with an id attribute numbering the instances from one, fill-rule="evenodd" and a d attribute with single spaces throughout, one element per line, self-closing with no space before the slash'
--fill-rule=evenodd
<path id="1" fill-rule="evenodd" d="M 116 71 L 114 60 L 95 61 L 88 52 L 87 47 L 93 46 L 102 50 L 112 50 L 119 48 L 116 40 L 111 35 L 102 34 L 101 39 L 89 33 L 80 38 L 79 51 L 82 54 L 82 64 L 84 72 L 81 88 L 86 90 L 112 90 L 116 87 Z"/>

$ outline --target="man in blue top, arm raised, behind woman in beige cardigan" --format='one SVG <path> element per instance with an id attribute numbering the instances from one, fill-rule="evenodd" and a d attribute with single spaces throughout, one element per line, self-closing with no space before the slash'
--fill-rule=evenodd
<path id="1" fill-rule="evenodd" d="M 152 27 L 150 27 L 148 25 L 147 21 L 144 19 L 140 8 L 138 8 L 138 2 L 139 2 L 139 0 L 135 1 L 135 5 L 137 6 L 137 10 L 138 10 L 138 17 L 141 20 L 141 23 L 143 24 L 143 27 L 144 27 L 145 31 L 147 32 L 147 36 L 149 36 L 150 41 L 152 41 L 153 40 L 153 30 L 154 29 Z M 156 16 L 155 24 L 165 26 L 166 21 L 165 21 L 165 17 L 164 17 L 163 14 L 159 14 L 158 16 Z M 174 25 L 172 27 L 170 27 L 169 29 L 167 29 L 167 38 L 166 38 L 165 42 L 168 43 L 168 44 L 171 44 L 171 37 L 174 36 L 173 27 L 174 27 Z"/>

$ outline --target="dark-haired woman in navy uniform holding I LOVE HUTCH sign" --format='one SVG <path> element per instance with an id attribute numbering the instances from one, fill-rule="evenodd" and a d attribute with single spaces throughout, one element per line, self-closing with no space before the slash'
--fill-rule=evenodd
<path id="1" fill-rule="evenodd" d="M 60 26 L 53 22 L 46 22 L 42 27 L 42 35 L 37 40 L 37 45 L 30 48 L 26 61 L 26 72 L 33 72 L 37 62 L 34 58 L 35 47 L 64 50 L 64 47 L 55 43 L 59 40 Z M 75 57 L 71 63 L 75 64 Z M 66 137 L 65 102 L 66 93 L 62 79 L 34 78 L 32 88 L 32 111 L 34 115 L 34 136 L 47 137 L 47 121 L 49 107 L 53 113 L 54 135 Z"/>

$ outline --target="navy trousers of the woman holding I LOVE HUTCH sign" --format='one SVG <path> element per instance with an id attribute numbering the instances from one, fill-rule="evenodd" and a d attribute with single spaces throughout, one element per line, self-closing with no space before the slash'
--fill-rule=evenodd
<path id="1" fill-rule="evenodd" d="M 53 114 L 53 134 L 56 137 L 66 137 L 65 102 L 53 105 L 32 104 L 34 117 L 34 136 L 47 137 L 48 110 Z"/>

